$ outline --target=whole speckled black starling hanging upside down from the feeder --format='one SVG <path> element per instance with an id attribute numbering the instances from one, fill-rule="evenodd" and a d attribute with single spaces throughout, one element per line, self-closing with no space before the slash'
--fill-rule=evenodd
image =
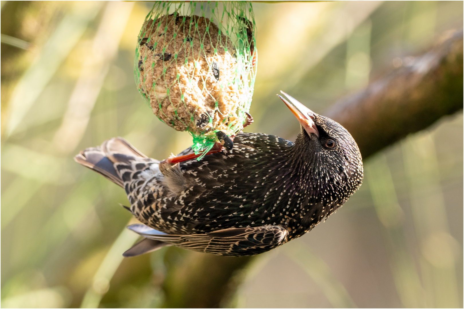
<path id="1" fill-rule="evenodd" d="M 143 223 L 128 227 L 144 239 L 124 256 L 173 245 L 255 255 L 302 236 L 348 200 L 363 177 L 358 145 L 340 124 L 282 93 L 301 124 L 295 143 L 238 133 L 232 150 L 219 145 L 198 161 L 188 148 L 160 162 L 113 138 L 75 157 L 124 188 Z"/>

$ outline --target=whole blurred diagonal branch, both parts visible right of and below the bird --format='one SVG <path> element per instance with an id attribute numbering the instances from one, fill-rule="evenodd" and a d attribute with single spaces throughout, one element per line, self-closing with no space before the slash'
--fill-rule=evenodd
<path id="1" fill-rule="evenodd" d="M 325 114 L 347 128 L 363 158 L 463 108 L 462 31 L 447 32 L 425 54 L 402 63 Z M 164 306 L 228 307 L 239 274 L 253 259 L 186 253 L 179 263 L 168 265 Z"/>

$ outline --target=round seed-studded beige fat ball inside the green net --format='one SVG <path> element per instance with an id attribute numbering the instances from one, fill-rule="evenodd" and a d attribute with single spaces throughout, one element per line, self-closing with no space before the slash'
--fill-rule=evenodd
<path id="1" fill-rule="evenodd" d="M 196 134 L 237 125 L 235 113 L 246 95 L 227 85 L 237 71 L 230 38 L 196 15 L 149 19 L 142 32 L 138 87 L 159 119 Z"/>

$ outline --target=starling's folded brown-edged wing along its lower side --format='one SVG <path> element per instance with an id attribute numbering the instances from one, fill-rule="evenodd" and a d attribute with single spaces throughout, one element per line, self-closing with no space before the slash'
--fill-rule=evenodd
<path id="1" fill-rule="evenodd" d="M 284 244 L 288 233 L 280 226 L 226 228 L 211 233 L 189 235 L 166 234 L 143 224 L 132 224 L 128 228 L 145 238 L 184 249 L 235 256 L 269 251 Z"/>

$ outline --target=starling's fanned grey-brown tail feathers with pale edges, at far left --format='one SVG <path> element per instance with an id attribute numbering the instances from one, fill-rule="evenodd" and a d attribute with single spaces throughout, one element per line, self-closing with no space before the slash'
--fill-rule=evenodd
<path id="1" fill-rule="evenodd" d="M 121 187 L 124 187 L 123 181 L 115 164 L 137 159 L 145 161 L 148 157 L 120 137 L 106 140 L 100 146 L 87 148 L 74 157 L 77 163 L 95 170 Z"/>

